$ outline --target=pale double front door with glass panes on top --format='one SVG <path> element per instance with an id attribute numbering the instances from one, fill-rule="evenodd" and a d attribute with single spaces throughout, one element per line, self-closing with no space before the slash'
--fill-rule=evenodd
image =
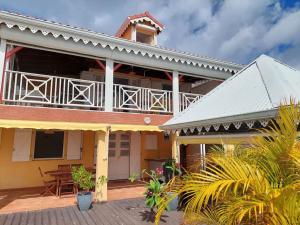
<path id="1" fill-rule="evenodd" d="M 115 132 L 109 135 L 108 179 L 128 179 L 130 160 L 130 133 Z"/>

